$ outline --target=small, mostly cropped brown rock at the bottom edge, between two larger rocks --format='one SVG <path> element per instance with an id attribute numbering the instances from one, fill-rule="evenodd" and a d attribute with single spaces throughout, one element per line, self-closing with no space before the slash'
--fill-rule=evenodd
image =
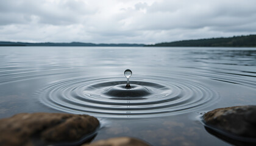
<path id="1" fill-rule="evenodd" d="M 149 146 L 146 142 L 132 137 L 115 137 L 107 140 L 96 141 L 82 146 Z"/>

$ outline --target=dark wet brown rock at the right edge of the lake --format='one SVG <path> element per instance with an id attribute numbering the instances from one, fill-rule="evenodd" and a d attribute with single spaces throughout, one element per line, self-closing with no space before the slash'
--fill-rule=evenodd
<path id="1" fill-rule="evenodd" d="M 209 111 L 203 116 L 207 126 L 235 136 L 256 138 L 256 106 L 233 106 Z"/>

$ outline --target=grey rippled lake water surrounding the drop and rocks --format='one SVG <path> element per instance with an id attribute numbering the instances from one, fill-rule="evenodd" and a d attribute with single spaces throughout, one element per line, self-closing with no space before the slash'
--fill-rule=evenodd
<path id="1" fill-rule="evenodd" d="M 124 71 L 132 70 L 125 89 Z M 256 104 L 256 48 L 0 47 L 0 118 L 90 114 L 94 141 L 230 145 L 205 130 L 215 108 Z"/>

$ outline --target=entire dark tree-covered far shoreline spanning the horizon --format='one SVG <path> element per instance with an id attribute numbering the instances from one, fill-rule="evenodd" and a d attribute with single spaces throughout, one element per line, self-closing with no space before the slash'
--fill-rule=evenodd
<path id="1" fill-rule="evenodd" d="M 230 38 L 208 38 L 199 40 L 173 41 L 169 43 L 145 44 L 94 44 L 94 43 L 23 43 L 0 41 L 0 46 L 116 46 L 116 47 L 256 47 L 256 35 L 233 36 Z"/>

